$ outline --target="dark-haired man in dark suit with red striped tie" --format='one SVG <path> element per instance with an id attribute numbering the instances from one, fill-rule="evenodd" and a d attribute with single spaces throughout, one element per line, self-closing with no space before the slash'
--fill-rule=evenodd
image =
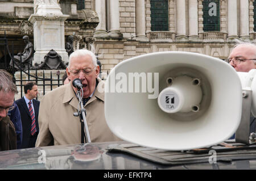
<path id="1" fill-rule="evenodd" d="M 25 95 L 15 101 L 19 107 L 22 120 L 22 148 L 34 148 L 39 133 L 38 113 L 39 104 L 35 100 L 38 95 L 38 86 L 35 82 L 27 82 L 24 85 Z"/>

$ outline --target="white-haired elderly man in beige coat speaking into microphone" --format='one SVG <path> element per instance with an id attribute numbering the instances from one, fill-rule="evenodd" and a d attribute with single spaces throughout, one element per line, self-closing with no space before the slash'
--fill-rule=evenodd
<path id="1" fill-rule="evenodd" d="M 67 68 L 71 82 L 48 92 L 40 102 L 40 132 L 36 147 L 80 144 L 85 141 L 81 136 L 80 118 L 73 116 L 79 104 L 76 96 L 77 88 L 72 86 L 75 78 L 82 81 L 83 103 L 91 141 L 119 140 L 106 124 L 104 92 L 97 89 L 98 83 L 101 82 L 98 77 L 99 73 L 100 66 L 97 65 L 96 56 L 92 52 L 79 49 L 71 54 Z"/>

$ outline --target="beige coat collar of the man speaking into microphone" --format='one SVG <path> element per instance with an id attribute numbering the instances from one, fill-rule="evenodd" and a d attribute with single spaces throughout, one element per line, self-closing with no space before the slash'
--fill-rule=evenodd
<path id="1" fill-rule="evenodd" d="M 101 86 L 101 90 L 104 90 L 104 81 L 102 81 L 100 78 L 97 78 L 97 80 L 98 80 L 98 86 Z M 68 85 L 64 85 L 64 86 L 65 86 L 65 94 L 64 94 L 64 98 L 63 98 L 63 103 L 69 102 L 69 104 L 71 104 L 71 106 L 73 106 L 77 109 L 79 100 L 77 99 L 76 93 L 73 90 L 72 83 L 70 82 L 70 83 L 68 83 Z M 88 104 L 90 102 L 93 102 L 93 100 L 95 100 L 96 98 L 98 98 L 104 102 L 105 93 L 104 93 L 104 91 L 99 91 L 98 86 L 97 86 L 96 90 L 94 91 L 92 98 L 88 101 Z"/>

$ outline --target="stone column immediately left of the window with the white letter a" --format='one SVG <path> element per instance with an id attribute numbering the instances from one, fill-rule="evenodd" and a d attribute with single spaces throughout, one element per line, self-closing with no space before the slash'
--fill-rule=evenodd
<path id="1" fill-rule="evenodd" d="M 189 29 L 189 40 L 198 41 L 198 10 L 197 0 L 188 1 L 188 29 Z"/>

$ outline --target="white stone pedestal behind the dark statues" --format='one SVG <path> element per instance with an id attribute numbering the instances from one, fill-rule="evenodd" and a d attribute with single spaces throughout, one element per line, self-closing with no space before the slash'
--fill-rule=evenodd
<path id="1" fill-rule="evenodd" d="M 66 64 L 68 53 L 65 50 L 64 22 L 69 15 L 63 15 L 56 6 L 47 6 L 45 9 L 39 7 L 36 14 L 28 19 L 34 24 L 35 54 L 32 64 L 40 64 L 51 49 L 60 54 Z"/>

